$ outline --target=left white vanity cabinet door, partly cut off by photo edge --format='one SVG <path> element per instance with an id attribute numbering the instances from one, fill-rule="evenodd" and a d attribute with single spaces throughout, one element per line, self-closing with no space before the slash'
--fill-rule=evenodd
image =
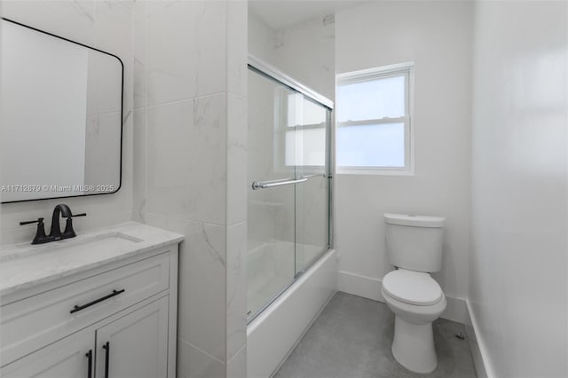
<path id="1" fill-rule="evenodd" d="M 3 378 L 93 378 L 95 334 L 84 330 L 4 366 Z"/>

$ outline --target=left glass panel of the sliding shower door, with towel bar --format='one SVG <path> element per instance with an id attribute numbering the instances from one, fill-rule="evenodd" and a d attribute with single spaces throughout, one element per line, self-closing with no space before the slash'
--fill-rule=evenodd
<path id="1" fill-rule="evenodd" d="M 248 72 L 248 316 L 294 280 L 296 167 L 284 163 L 287 98 L 294 92 Z"/>

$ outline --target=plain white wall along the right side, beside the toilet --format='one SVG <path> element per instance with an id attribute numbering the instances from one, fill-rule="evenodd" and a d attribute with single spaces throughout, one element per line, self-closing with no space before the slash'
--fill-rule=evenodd
<path id="1" fill-rule="evenodd" d="M 568 375 L 567 16 L 476 4 L 469 306 L 489 376 Z"/>

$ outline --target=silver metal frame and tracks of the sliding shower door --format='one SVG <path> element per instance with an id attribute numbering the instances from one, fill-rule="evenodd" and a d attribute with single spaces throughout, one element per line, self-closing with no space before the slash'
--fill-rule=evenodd
<path id="1" fill-rule="evenodd" d="M 306 98 L 311 99 L 312 101 L 318 103 L 321 106 L 324 106 L 327 108 L 328 112 L 327 112 L 327 125 L 328 125 L 328 129 L 327 129 L 327 133 L 326 133 L 326 148 L 327 148 L 327 160 L 326 160 L 326 165 L 327 165 L 327 169 L 324 173 L 324 177 L 327 177 L 327 249 L 321 251 L 321 253 L 314 257 L 312 259 L 312 261 L 310 262 L 310 264 L 307 264 L 306 267 L 304 268 L 304 270 L 300 271 L 300 272 L 295 272 L 295 276 L 294 279 L 290 281 L 290 283 L 284 287 L 277 295 L 274 295 L 272 297 L 272 299 L 270 301 L 268 301 L 267 303 L 264 304 L 263 307 L 261 307 L 258 311 L 256 311 L 256 313 L 252 314 L 252 316 L 250 316 L 247 319 L 247 324 L 249 324 L 250 322 L 252 322 L 254 319 L 256 319 L 260 314 L 262 314 L 264 312 L 264 310 L 266 310 L 267 307 L 269 307 L 274 301 L 276 301 L 276 299 L 278 299 L 280 297 L 280 295 L 282 295 L 283 293 L 286 292 L 286 290 L 288 290 L 289 287 L 291 287 L 292 285 L 294 285 L 294 283 L 296 282 L 296 280 L 298 280 L 306 270 L 310 269 L 312 267 L 312 265 L 317 262 L 319 260 L 319 258 L 321 258 L 321 256 L 323 256 L 329 249 L 333 248 L 333 242 L 334 242 L 334 230 L 335 230 L 335 223 L 334 223 L 334 213 L 333 213 L 333 192 L 334 192 L 334 176 L 335 176 L 335 166 L 334 166 L 334 140 L 335 140 L 335 127 L 333 127 L 334 123 L 334 102 L 332 100 L 330 100 L 329 98 L 323 96 L 322 94 L 320 94 L 317 91 L 313 91 L 312 89 L 306 87 L 304 84 L 298 82 L 296 79 L 290 77 L 289 75 L 286 75 L 285 73 L 283 73 L 282 71 L 280 71 L 280 69 L 273 67 L 272 65 L 264 62 L 261 59 L 257 59 L 255 56 L 248 54 L 248 68 L 251 69 L 252 71 L 256 72 L 259 75 L 263 75 L 264 77 L 278 82 L 288 88 L 290 88 L 292 91 L 296 91 L 299 92 L 301 94 L 303 94 Z M 310 175 L 309 177 L 315 177 L 315 176 L 319 176 L 319 175 Z M 297 178 L 309 178 L 309 177 L 297 177 Z M 280 181 L 280 180 L 276 180 L 276 181 Z M 304 182 L 305 180 L 300 180 L 299 182 Z M 286 183 L 289 183 L 289 180 L 286 180 Z M 268 187 L 268 186 L 267 186 Z M 256 187 L 254 188 L 256 189 L 260 189 L 260 187 Z"/>

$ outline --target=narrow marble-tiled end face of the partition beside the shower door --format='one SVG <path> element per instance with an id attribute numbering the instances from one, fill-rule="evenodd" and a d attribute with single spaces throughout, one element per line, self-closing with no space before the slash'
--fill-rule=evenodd
<path id="1" fill-rule="evenodd" d="M 247 376 L 248 1 L 227 2 L 226 376 Z"/>

